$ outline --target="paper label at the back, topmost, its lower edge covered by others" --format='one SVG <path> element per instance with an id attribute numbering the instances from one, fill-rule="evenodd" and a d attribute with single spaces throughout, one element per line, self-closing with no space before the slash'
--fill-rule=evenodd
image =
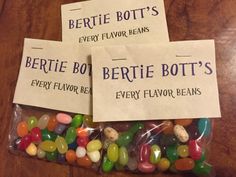
<path id="1" fill-rule="evenodd" d="M 62 39 L 87 46 L 168 42 L 163 0 L 92 0 L 62 5 Z"/>

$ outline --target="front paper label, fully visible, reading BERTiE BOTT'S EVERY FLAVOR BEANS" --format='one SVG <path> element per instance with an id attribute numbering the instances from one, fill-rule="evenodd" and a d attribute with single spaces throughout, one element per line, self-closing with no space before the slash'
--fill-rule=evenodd
<path id="1" fill-rule="evenodd" d="M 94 121 L 220 117 L 213 40 L 92 48 Z"/>

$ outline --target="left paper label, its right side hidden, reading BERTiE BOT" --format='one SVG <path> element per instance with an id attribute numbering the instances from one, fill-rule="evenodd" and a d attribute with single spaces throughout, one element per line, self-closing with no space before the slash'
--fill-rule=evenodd
<path id="1" fill-rule="evenodd" d="M 68 43 L 25 39 L 13 102 L 91 114 L 91 61 L 84 55 L 88 50 Z"/>

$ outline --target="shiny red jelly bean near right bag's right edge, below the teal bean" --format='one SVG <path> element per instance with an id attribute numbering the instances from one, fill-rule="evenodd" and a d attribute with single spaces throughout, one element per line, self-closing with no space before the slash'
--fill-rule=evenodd
<path id="1" fill-rule="evenodd" d="M 189 154 L 193 160 L 199 160 L 202 156 L 202 148 L 198 145 L 196 140 L 189 141 Z"/>

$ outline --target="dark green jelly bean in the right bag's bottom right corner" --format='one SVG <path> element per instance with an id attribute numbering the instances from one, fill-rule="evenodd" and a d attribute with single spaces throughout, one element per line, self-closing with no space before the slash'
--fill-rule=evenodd
<path id="1" fill-rule="evenodd" d="M 209 175 L 211 173 L 211 165 L 206 162 L 197 162 L 193 168 L 193 173 L 197 176 Z"/>

